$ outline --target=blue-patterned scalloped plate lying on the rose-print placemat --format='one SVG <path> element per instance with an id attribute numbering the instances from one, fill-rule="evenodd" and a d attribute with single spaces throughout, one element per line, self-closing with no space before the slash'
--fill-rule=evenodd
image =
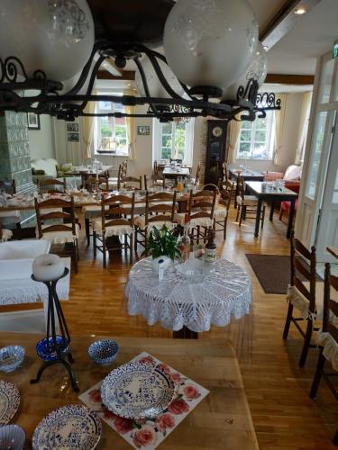
<path id="1" fill-rule="evenodd" d="M 157 365 L 128 363 L 105 377 L 101 397 L 106 408 L 125 419 L 151 419 L 167 408 L 175 393 L 168 374 Z"/>

